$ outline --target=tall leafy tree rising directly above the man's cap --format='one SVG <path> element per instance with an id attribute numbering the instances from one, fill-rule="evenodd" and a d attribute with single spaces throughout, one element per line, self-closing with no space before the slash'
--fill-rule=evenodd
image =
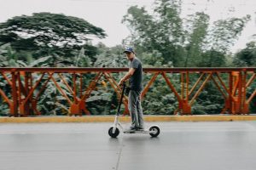
<path id="1" fill-rule="evenodd" d="M 172 61 L 179 65 L 183 56 L 180 44 L 184 41 L 180 3 L 178 1 L 156 1 L 155 15 L 150 15 L 145 8 L 132 6 L 124 16 L 123 23 L 131 30 L 131 44 L 141 51 L 152 53 L 160 51 L 164 62 Z M 140 51 L 140 49 L 138 50 Z"/>

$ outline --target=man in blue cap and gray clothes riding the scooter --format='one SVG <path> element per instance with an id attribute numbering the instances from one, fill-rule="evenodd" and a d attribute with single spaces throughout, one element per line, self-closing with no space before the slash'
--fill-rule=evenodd
<path id="1" fill-rule="evenodd" d="M 130 62 L 129 71 L 125 77 L 119 81 L 119 86 L 129 79 L 130 92 L 129 92 L 129 111 L 131 115 L 131 127 L 129 131 L 143 130 L 143 108 L 141 105 L 141 94 L 143 90 L 143 66 L 140 59 L 137 59 L 135 52 L 132 48 L 126 48 L 124 53 Z"/>

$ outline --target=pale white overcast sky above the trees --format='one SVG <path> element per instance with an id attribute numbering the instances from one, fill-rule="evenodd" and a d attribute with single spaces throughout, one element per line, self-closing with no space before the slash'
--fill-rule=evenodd
<path id="1" fill-rule="evenodd" d="M 72 15 L 105 30 L 108 37 L 101 42 L 113 47 L 130 33 L 121 24 L 127 8 L 138 5 L 152 9 L 153 3 L 154 0 L 0 0 L 0 22 L 38 12 Z M 183 17 L 202 10 L 210 15 L 211 21 L 251 14 L 252 20 L 231 50 L 235 52 L 244 48 L 246 42 L 253 40 L 252 35 L 256 34 L 256 0 L 183 0 Z"/>

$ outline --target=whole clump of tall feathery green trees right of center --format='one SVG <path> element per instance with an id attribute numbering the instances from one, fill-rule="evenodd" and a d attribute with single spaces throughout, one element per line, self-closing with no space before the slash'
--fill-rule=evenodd
<path id="1" fill-rule="evenodd" d="M 209 28 L 207 14 L 197 12 L 183 20 L 181 7 L 181 0 L 155 0 L 154 14 L 148 14 L 145 8 L 132 6 L 122 20 L 131 30 L 130 43 L 125 43 L 139 52 L 159 51 L 163 64 L 172 61 L 174 66 L 207 66 L 209 63 L 202 65 L 203 54 L 209 56 L 210 63 L 216 54 L 213 52 L 227 54 L 250 20 L 250 15 L 217 20 Z"/>

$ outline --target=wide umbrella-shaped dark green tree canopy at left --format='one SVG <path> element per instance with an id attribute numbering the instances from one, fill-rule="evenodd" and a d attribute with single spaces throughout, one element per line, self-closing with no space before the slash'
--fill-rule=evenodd
<path id="1" fill-rule="evenodd" d="M 0 43 L 9 42 L 17 51 L 37 51 L 38 55 L 69 55 L 73 49 L 90 42 L 92 36 L 107 35 L 86 20 L 64 14 L 34 13 L 15 16 L 0 24 Z"/>

